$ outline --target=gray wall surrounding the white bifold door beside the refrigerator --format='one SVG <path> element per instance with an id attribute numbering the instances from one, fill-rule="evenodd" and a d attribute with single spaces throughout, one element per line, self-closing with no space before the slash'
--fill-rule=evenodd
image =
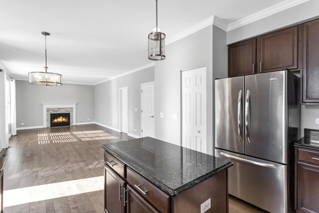
<path id="1" fill-rule="evenodd" d="M 207 153 L 212 154 L 213 69 L 218 69 L 220 76 L 227 76 L 226 32 L 210 25 L 166 46 L 165 55 L 165 60 L 155 63 L 155 137 L 181 144 L 180 70 L 206 64 Z M 160 118 L 160 112 L 164 118 Z M 172 120 L 172 113 L 178 114 L 177 120 Z"/>

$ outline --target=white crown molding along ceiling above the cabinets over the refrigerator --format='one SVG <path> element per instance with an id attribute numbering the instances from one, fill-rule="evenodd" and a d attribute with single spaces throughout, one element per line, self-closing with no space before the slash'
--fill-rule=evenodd
<path id="1" fill-rule="evenodd" d="M 285 0 L 285 1 L 282 1 L 278 4 L 275 4 L 273 6 L 266 8 L 266 9 L 263 9 L 259 12 L 256 12 L 254 14 L 251 14 L 247 17 L 244 17 L 242 19 L 239 19 L 235 22 L 228 24 L 227 31 L 230 31 L 230 30 L 236 29 L 238 27 L 244 26 L 246 24 L 252 23 L 254 21 L 260 20 L 262 18 L 265 18 L 267 16 L 270 16 L 272 14 L 278 13 L 278 12 L 283 11 L 283 10 L 289 9 L 291 7 L 294 7 L 296 5 L 302 4 L 302 3 L 307 2 L 307 1 L 309 1 L 309 0 Z"/>

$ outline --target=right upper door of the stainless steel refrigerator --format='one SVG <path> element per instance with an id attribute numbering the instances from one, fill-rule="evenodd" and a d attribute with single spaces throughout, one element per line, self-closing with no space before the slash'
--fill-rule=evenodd
<path id="1" fill-rule="evenodd" d="M 287 164 L 286 75 L 279 71 L 245 76 L 246 155 Z"/>

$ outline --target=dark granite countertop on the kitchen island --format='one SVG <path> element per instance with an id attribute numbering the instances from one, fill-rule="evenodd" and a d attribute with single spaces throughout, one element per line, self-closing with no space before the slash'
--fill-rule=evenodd
<path id="1" fill-rule="evenodd" d="M 171 196 L 233 165 L 230 161 L 150 137 L 104 144 L 102 147 Z"/>

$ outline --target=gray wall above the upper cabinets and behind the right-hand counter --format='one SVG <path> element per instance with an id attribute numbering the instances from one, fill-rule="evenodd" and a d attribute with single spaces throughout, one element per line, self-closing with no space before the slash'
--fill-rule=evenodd
<path id="1" fill-rule="evenodd" d="M 234 43 L 236 41 L 253 37 L 268 31 L 315 18 L 319 15 L 318 8 L 319 0 L 310 0 L 279 13 L 275 13 L 258 21 L 227 32 L 227 43 Z M 315 123 L 315 118 L 319 118 L 319 105 L 302 105 L 302 136 L 304 136 L 304 128 L 319 129 L 319 124 Z"/>

